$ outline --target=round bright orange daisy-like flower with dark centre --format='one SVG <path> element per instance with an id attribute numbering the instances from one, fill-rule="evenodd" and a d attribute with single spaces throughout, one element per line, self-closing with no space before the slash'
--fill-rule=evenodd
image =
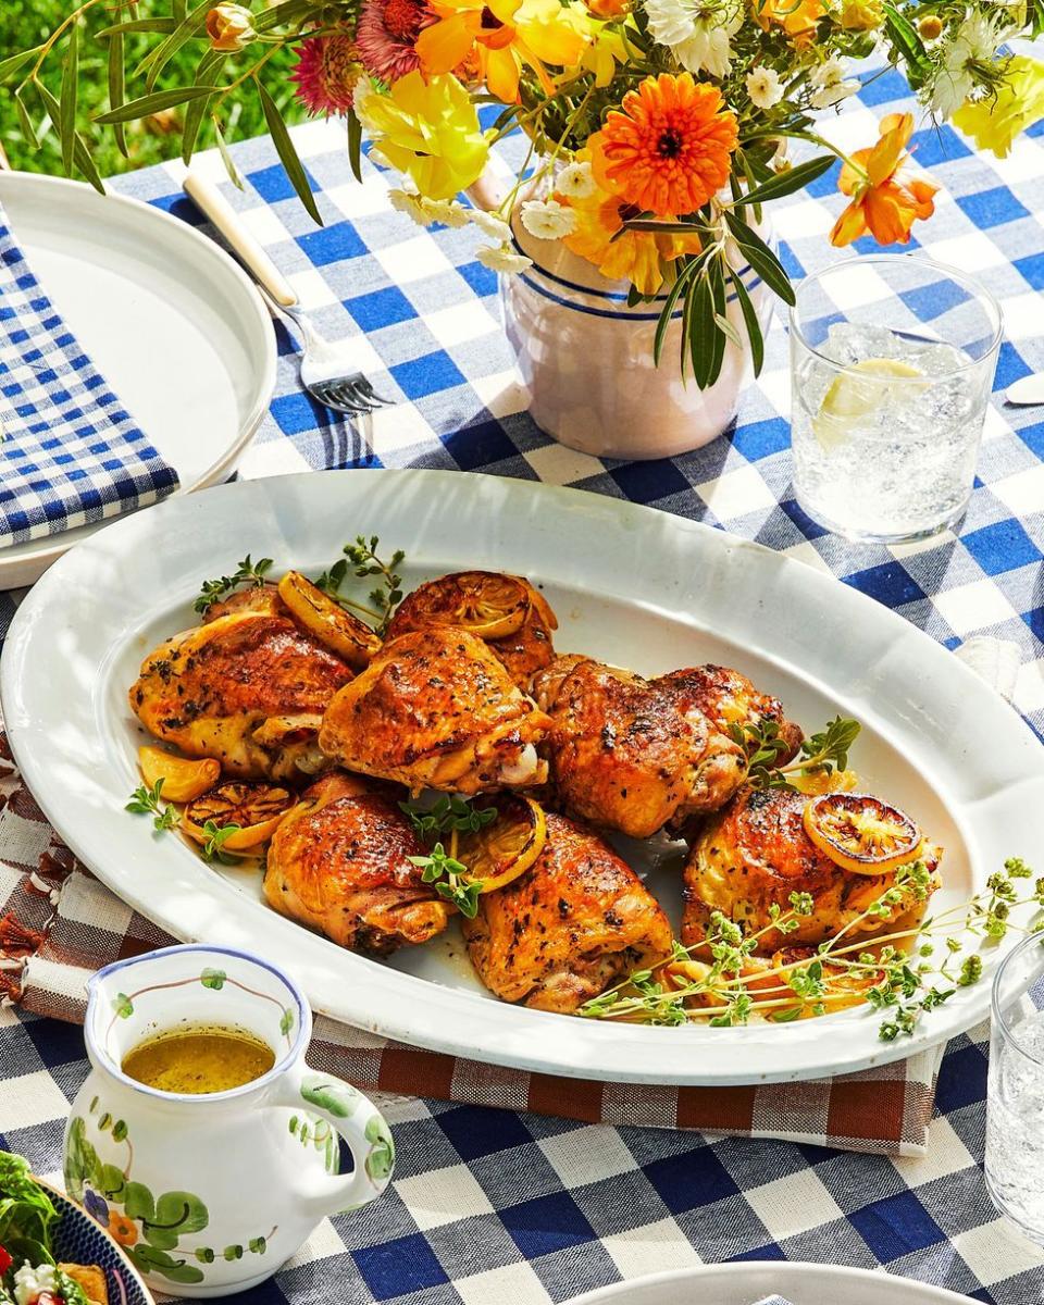
<path id="1" fill-rule="evenodd" d="M 646 77 L 589 140 L 595 180 L 658 218 L 696 213 L 728 180 L 736 116 L 692 73 Z"/>

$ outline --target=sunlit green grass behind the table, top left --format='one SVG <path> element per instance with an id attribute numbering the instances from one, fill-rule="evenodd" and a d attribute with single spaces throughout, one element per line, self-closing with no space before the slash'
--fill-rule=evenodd
<path id="1" fill-rule="evenodd" d="M 77 0 L 0 0 L 0 59 L 38 46 L 74 8 Z M 161 17 L 170 12 L 167 4 L 144 4 L 138 13 L 142 17 Z M 80 128 L 87 138 L 94 157 L 94 162 L 102 176 L 114 175 L 134 167 L 147 167 L 150 163 L 159 163 L 167 158 L 176 158 L 180 153 L 180 138 L 176 130 L 164 129 L 171 124 L 146 120 L 144 123 L 129 123 L 127 127 L 127 145 L 130 154 L 125 159 L 112 141 L 111 129 L 104 127 L 91 127 L 93 114 L 103 112 L 108 107 L 107 99 L 107 51 L 104 40 L 93 40 L 90 34 L 112 23 L 115 20 L 106 4 L 99 4 L 89 10 L 80 33 Z M 128 38 L 127 65 L 128 86 L 127 98 L 145 94 L 144 80 L 132 82 L 129 80 L 130 68 L 136 59 L 140 59 L 150 43 L 162 39 L 158 37 Z M 192 42 L 187 48 L 179 51 L 167 65 L 158 90 L 171 86 L 192 85 L 193 69 L 200 55 L 205 50 L 204 42 Z M 60 42 L 48 57 L 43 68 L 42 81 L 57 95 L 61 85 L 61 51 Z M 249 57 L 249 56 L 247 56 Z M 257 57 L 256 55 L 253 56 Z M 283 111 L 287 121 L 296 123 L 305 117 L 304 110 L 294 100 L 294 84 L 288 80 L 296 56 L 290 52 L 281 52 L 265 65 L 261 76 L 265 87 Z M 224 78 L 232 80 L 244 67 L 244 57 L 227 61 Z M 230 72 L 234 69 L 234 72 Z M 22 76 L 21 73 L 18 74 Z M 17 84 L 17 82 L 16 82 Z M 236 103 L 231 104 L 232 98 Z M 42 136 L 39 150 L 34 150 L 25 140 L 12 97 L 12 84 L 0 86 L 0 142 L 10 159 L 10 166 L 27 172 L 61 174 L 61 150 L 57 142 L 57 133 L 52 127 L 47 127 L 42 133 L 40 124 L 44 121 L 43 111 L 35 102 L 35 97 L 26 94 L 26 102 L 33 116 L 33 121 Z M 180 121 L 180 110 L 172 110 L 172 115 Z M 244 85 L 226 102 L 223 115 L 224 138 L 228 144 L 245 140 L 249 136 L 260 136 L 265 132 L 265 119 L 261 106 L 252 86 Z M 213 145 L 213 132 L 209 123 L 204 124 L 197 141 L 197 150 Z"/>

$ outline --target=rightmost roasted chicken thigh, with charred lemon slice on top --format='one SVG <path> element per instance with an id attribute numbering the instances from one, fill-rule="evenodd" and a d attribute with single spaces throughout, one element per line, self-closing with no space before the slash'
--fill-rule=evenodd
<path id="1" fill-rule="evenodd" d="M 705 936 L 713 911 L 720 911 L 750 934 L 770 923 L 769 908 L 790 910 L 791 893 L 809 893 L 810 916 L 783 936 L 769 929 L 758 950 L 825 942 L 850 924 L 895 882 L 895 874 L 852 874 L 835 865 L 805 834 L 804 793 L 786 788 L 744 786 L 728 806 L 713 816 L 689 853 L 684 874 L 685 910 L 681 941 L 690 946 Z M 933 874 L 941 850 L 925 843 L 921 859 Z M 912 906 L 912 902 L 911 902 Z M 877 930 L 897 916 L 874 917 L 852 930 Z"/>

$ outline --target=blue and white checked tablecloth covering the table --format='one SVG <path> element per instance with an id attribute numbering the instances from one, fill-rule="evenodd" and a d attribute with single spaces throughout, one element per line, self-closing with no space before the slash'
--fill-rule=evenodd
<path id="1" fill-rule="evenodd" d="M 870 144 L 876 119 L 908 107 L 904 97 L 902 78 L 885 72 L 830 129 L 848 147 Z M 998 164 L 946 127 L 915 136 L 917 158 L 945 191 L 911 248 L 976 273 L 1004 301 L 998 392 L 1044 369 L 1041 137 L 1044 124 Z M 300 392 L 295 348 L 279 328 L 277 393 L 243 475 L 448 467 L 572 484 L 723 526 L 834 573 L 947 646 L 975 633 L 1014 639 L 1023 654 L 1017 705 L 1044 731 L 1040 410 L 994 406 L 959 530 L 902 548 L 851 545 L 797 509 L 779 328 L 765 373 L 724 438 L 654 463 L 573 453 L 526 415 L 496 279 L 475 260 L 478 234 L 424 231 L 393 213 L 385 175 L 371 167 L 361 185 L 351 180 L 335 125 L 312 123 L 296 138 L 324 228 L 294 200 L 266 141 L 236 147 L 247 187 L 241 194 L 228 188 L 230 198 L 324 333 L 354 335 L 360 365 L 399 406 L 380 414 L 364 438 Z M 170 164 L 114 188 L 198 222 L 179 176 Z M 795 275 L 837 257 L 826 232 L 839 205 L 831 174 L 776 210 Z M 12 606 L 0 599 L 0 626 Z M 881 1266 L 977 1301 L 1041 1305 L 1044 1253 L 997 1216 L 983 1186 L 981 1036 L 957 1039 L 942 1062 L 921 1159 L 398 1099 L 388 1105 L 399 1163 L 386 1198 L 325 1220 L 249 1301 L 543 1305 L 658 1270 L 786 1258 Z M 64 1116 L 85 1074 L 78 1028 L 0 1009 L 0 1135 L 40 1173 L 60 1168 Z"/>

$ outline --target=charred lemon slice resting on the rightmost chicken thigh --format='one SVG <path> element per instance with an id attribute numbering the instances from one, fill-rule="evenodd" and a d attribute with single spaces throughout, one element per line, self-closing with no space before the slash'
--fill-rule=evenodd
<path id="1" fill-rule="evenodd" d="M 853 874 L 887 874 L 915 861 L 921 847 L 910 816 L 869 793 L 813 797 L 803 822 L 816 847 Z"/>

